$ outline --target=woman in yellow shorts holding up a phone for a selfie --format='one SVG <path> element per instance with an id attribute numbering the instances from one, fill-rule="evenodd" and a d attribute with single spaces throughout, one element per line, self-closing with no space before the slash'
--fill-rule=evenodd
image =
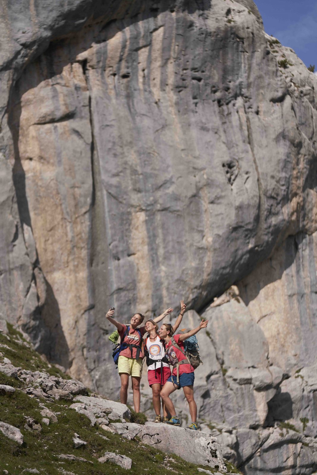
<path id="1" fill-rule="evenodd" d="M 154 318 L 154 322 L 160 322 L 166 315 L 173 312 L 173 308 L 168 308 L 163 314 Z M 118 372 L 121 380 L 120 402 L 126 404 L 128 398 L 129 376 L 132 379 L 133 404 L 135 412 L 140 412 L 140 380 L 142 370 L 142 340 L 146 332 L 145 326 L 138 328 L 144 320 L 144 315 L 134 314 L 130 325 L 117 322 L 113 315 L 115 310 L 108 310 L 106 319 L 113 323 L 118 330 L 122 350 L 119 353 Z"/>

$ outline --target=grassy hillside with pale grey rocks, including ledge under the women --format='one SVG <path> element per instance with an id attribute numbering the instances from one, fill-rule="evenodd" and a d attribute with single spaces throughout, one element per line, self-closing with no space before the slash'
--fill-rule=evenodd
<path id="1" fill-rule="evenodd" d="M 6 349 L 13 351 L 10 346 Z M 83 466 L 94 466 L 94 473 L 103 474 L 107 473 L 109 463 L 134 473 L 139 450 L 144 457 L 147 451 L 151 453 L 148 468 L 152 469 L 159 460 L 162 474 L 164 470 L 197 475 L 199 471 L 227 473 L 216 437 L 146 421 L 144 415 L 136 415 L 125 404 L 89 394 L 83 383 L 67 379 L 67 375 L 58 377 L 46 371 L 26 370 L 15 366 L 2 353 L 0 357 L 0 445 L 4 446 L 3 453 L 8 454 L 1 460 L 3 467 L 7 467 L 4 474 L 76 475 Z M 53 434 L 59 441 L 50 439 Z M 98 440 L 98 450 L 93 437 Z M 42 460 L 32 462 L 29 454 L 22 465 L 23 457 L 19 457 L 18 464 L 16 457 L 21 456 L 21 450 L 38 454 L 41 439 L 45 441 L 45 452 L 37 457 Z M 32 443 L 36 448 L 32 448 Z M 53 460 L 49 461 L 49 456 Z M 54 472 L 46 468 L 46 462 L 54 464 Z M 71 472 L 67 470 L 68 464 Z"/>

